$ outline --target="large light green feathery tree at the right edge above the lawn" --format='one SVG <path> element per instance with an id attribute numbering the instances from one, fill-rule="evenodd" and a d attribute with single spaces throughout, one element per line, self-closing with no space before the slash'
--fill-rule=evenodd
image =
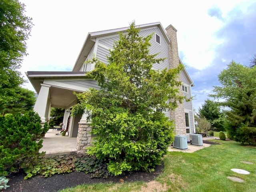
<path id="1" fill-rule="evenodd" d="M 241 126 L 256 127 L 256 68 L 234 61 L 218 75 L 221 86 L 214 86 L 215 94 L 226 108 L 226 128 L 232 136 Z"/>

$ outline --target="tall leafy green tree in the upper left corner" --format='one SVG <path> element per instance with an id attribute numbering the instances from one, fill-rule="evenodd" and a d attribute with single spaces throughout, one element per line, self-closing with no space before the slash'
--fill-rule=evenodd
<path id="1" fill-rule="evenodd" d="M 24 83 L 18 71 L 26 55 L 26 40 L 32 28 L 31 18 L 24 15 L 25 5 L 18 0 L 0 1 L 0 106 L 14 100 L 16 88 Z"/>

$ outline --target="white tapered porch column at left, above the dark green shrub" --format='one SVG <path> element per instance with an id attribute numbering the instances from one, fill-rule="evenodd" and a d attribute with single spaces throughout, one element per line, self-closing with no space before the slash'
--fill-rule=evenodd
<path id="1" fill-rule="evenodd" d="M 50 86 L 41 84 L 41 89 L 34 106 L 34 111 L 41 117 L 42 123 L 48 122 L 50 111 Z"/>

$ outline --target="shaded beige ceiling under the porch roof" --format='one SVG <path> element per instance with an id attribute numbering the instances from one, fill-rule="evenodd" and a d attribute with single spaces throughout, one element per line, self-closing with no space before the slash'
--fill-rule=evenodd
<path id="1" fill-rule="evenodd" d="M 78 92 L 76 92 L 78 93 Z M 65 108 L 71 102 L 76 100 L 73 90 L 63 89 L 63 88 L 50 88 L 50 100 L 51 106 L 56 108 Z"/>

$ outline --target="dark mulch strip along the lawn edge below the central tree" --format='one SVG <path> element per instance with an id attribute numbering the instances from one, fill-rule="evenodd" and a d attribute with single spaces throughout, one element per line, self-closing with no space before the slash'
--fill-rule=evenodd
<path id="1" fill-rule="evenodd" d="M 149 182 L 154 180 L 162 173 L 164 164 L 156 166 L 154 172 L 126 172 L 121 176 L 103 178 L 90 178 L 90 174 L 84 172 L 71 172 L 66 174 L 54 174 L 51 177 L 44 178 L 40 175 L 33 176 L 28 180 L 24 180 L 26 174 L 18 172 L 8 176 L 10 179 L 6 192 L 55 192 L 68 187 L 74 187 L 80 184 L 94 184 L 94 183 L 118 183 L 118 182 L 134 182 L 144 181 Z"/>

